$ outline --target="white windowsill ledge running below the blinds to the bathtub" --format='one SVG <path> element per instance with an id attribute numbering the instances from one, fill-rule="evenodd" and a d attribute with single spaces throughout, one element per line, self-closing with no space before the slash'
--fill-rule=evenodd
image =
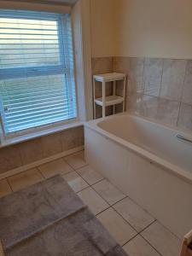
<path id="1" fill-rule="evenodd" d="M 58 125 L 58 126 L 55 126 L 55 127 L 50 127 L 50 128 L 41 130 L 41 131 L 32 131 L 32 132 L 27 133 L 25 135 L 20 135 L 20 136 L 17 136 L 17 137 L 11 137 L 11 138 L 7 138 L 7 139 L 3 139 L 3 142 L 0 143 L 0 148 L 5 148 L 5 147 L 8 147 L 10 145 L 15 145 L 17 143 L 26 142 L 26 141 L 32 140 L 34 138 L 37 138 L 37 137 L 43 137 L 43 136 L 46 136 L 46 135 L 49 135 L 49 134 L 53 134 L 53 133 L 58 132 L 58 131 L 65 131 L 65 130 L 68 130 L 70 128 L 75 128 L 75 127 L 78 127 L 78 126 L 81 126 L 81 125 L 84 125 L 84 122 L 76 120 L 76 121 L 73 121 L 69 124 Z"/>

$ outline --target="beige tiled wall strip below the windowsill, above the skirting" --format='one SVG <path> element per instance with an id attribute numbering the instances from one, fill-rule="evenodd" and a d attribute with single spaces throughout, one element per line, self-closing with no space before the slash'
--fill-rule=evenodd
<path id="1" fill-rule="evenodd" d="M 84 127 L 79 126 L 0 148 L 0 174 L 83 145 Z"/>

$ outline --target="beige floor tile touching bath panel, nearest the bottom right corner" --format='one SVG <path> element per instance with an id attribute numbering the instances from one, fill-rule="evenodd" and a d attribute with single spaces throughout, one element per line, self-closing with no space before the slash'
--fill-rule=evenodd
<path id="1" fill-rule="evenodd" d="M 182 241 L 179 241 L 158 222 L 143 230 L 141 235 L 163 256 L 178 256 L 180 254 Z"/>

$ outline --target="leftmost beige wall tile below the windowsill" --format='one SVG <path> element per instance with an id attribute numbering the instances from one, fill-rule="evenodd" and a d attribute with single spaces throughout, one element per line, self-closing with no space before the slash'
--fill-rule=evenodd
<path id="1" fill-rule="evenodd" d="M 22 166 L 18 145 L 0 148 L 0 173 Z"/>

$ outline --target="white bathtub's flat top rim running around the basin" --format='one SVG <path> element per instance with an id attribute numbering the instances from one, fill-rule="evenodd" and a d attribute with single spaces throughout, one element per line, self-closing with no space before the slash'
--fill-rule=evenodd
<path id="1" fill-rule="evenodd" d="M 113 119 L 113 118 L 119 117 L 119 116 L 129 116 L 133 119 L 143 119 L 143 121 L 147 121 L 147 122 L 155 124 L 155 125 L 164 126 L 166 129 L 170 129 L 172 131 L 175 131 L 176 133 L 183 133 L 186 136 L 192 136 L 192 134 L 187 133 L 186 131 L 177 130 L 177 129 L 173 128 L 170 125 L 163 125 L 160 122 L 154 122 L 151 119 L 145 119 L 145 118 L 142 118 L 140 116 L 137 116 L 137 115 L 131 114 L 131 113 L 115 114 L 113 116 L 109 116 L 109 117 L 101 118 L 101 119 L 94 119 L 94 120 L 91 120 L 91 121 L 88 121 L 88 122 L 84 123 L 84 126 L 86 128 L 89 128 L 90 130 L 96 131 L 96 133 L 99 133 L 100 135 L 102 135 L 102 137 L 105 137 L 106 139 L 109 139 L 109 140 L 113 141 L 113 143 L 116 143 L 116 144 L 122 146 L 126 150 L 131 150 L 135 154 L 137 154 L 137 155 L 143 157 L 144 159 L 148 160 L 148 162 L 150 162 L 151 165 L 160 166 L 166 172 L 170 172 L 170 173 L 172 173 L 173 175 L 175 175 L 177 177 L 181 177 L 181 178 L 183 178 L 183 180 L 185 182 L 192 184 L 192 173 L 183 170 L 181 167 L 178 167 L 178 166 L 172 164 L 168 160 L 164 160 L 164 159 L 160 158 L 159 156 L 148 152 L 147 149 L 141 148 L 141 147 L 137 146 L 134 143 L 130 143 L 130 142 L 126 141 L 125 139 L 122 139 L 120 137 L 117 137 L 116 135 L 113 135 L 113 133 L 111 133 L 109 131 L 105 131 L 100 126 L 98 126 L 98 124 L 101 123 L 104 120 Z"/>

